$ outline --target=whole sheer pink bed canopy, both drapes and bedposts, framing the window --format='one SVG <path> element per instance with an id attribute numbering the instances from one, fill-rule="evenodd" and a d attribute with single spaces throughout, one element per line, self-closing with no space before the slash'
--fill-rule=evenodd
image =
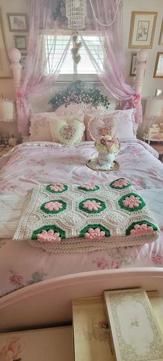
<path id="1" fill-rule="evenodd" d="M 74 30 L 70 31 L 68 28 L 65 6 L 64 0 L 32 0 L 28 57 L 22 74 L 21 65 L 19 64 L 19 50 L 12 49 L 9 52 L 17 91 L 19 132 L 21 132 L 22 136 L 28 135 L 28 118 L 31 112 L 30 102 L 32 97 L 37 94 L 44 94 L 50 85 L 55 83 L 61 66 L 64 64 L 72 39 L 75 44 L 82 43 L 105 88 L 115 99 L 126 101 L 124 108 L 137 108 L 135 120 L 137 123 L 141 122 L 142 105 L 140 92 L 147 52 L 146 50 L 141 50 L 137 57 L 137 77 L 135 79 L 135 88 L 133 88 L 133 86 L 126 84 L 124 80 L 121 39 L 122 1 L 101 0 L 99 2 L 98 0 L 87 0 L 85 28 L 75 30 L 75 32 Z M 57 35 L 58 33 L 66 34 L 67 32 L 70 34 L 70 37 L 64 52 L 56 62 L 54 56 Z M 84 32 L 86 34 L 94 32 L 98 35 L 104 54 L 103 64 L 97 63 L 94 52 L 90 50 L 88 43 L 84 39 Z M 52 41 L 50 45 L 48 43 L 47 54 L 46 41 L 48 35 L 51 36 Z"/>

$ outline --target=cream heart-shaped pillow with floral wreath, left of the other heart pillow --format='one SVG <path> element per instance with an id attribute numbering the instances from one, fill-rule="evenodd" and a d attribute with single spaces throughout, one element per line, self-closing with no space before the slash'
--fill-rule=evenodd
<path id="1" fill-rule="evenodd" d="M 73 146 L 83 137 L 85 130 L 84 123 L 75 117 L 58 117 L 55 121 L 50 121 L 52 139 L 57 139 L 61 144 Z"/>

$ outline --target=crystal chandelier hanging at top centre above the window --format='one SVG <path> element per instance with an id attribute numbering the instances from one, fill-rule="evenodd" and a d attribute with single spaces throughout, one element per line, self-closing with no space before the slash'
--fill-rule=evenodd
<path id="1" fill-rule="evenodd" d="M 68 28 L 73 30 L 85 27 L 86 0 L 66 0 Z"/>

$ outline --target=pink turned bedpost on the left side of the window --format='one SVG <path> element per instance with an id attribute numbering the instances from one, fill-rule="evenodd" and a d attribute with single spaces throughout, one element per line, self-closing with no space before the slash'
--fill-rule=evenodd
<path id="1" fill-rule="evenodd" d="M 10 58 L 10 68 L 12 70 L 13 75 L 13 86 L 15 89 L 15 95 L 17 94 L 17 90 L 19 89 L 19 84 L 21 80 L 21 69 L 22 66 L 19 63 L 21 59 L 21 52 L 18 49 L 12 48 L 8 52 L 8 57 Z"/>

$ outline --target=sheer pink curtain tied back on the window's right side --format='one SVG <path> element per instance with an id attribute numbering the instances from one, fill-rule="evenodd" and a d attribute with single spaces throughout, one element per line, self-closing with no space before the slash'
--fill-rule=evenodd
<path id="1" fill-rule="evenodd" d="M 93 52 L 81 35 L 88 55 L 93 62 L 99 79 L 106 89 L 118 100 L 126 100 L 124 108 L 137 108 L 136 121 L 142 121 L 140 95 L 124 81 L 124 56 L 122 53 L 122 2 L 119 0 L 89 0 L 93 11 L 96 32 L 99 34 L 104 52 L 104 69 L 99 67 Z"/>

